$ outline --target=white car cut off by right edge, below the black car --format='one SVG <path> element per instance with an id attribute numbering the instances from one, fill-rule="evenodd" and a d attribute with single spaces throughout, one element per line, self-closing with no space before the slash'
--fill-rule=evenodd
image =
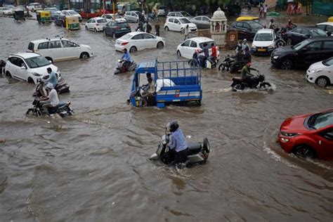
<path id="1" fill-rule="evenodd" d="M 333 57 L 313 63 L 306 71 L 306 79 L 312 84 L 326 87 L 333 84 Z"/>

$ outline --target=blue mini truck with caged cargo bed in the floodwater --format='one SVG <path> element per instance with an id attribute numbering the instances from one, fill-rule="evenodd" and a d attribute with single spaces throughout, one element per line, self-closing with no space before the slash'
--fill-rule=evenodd
<path id="1" fill-rule="evenodd" d="M 148 84 L 146 74 L 155 81 L 156 93 L 150 96 L 148 105 L 165 107 L 168 103 L 195 102 L 201 105 L 202 87 L 200 67 L 191 67 L 188 61 L 145 62 L 138 65 L 133 74 L 130 103 L 135 107 L 143 105 L 142 93 Z"/>

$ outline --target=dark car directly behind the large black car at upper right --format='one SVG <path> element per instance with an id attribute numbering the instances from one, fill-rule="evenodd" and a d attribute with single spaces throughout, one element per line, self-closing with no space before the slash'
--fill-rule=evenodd
<path id="1" fill-rule="evenodd" d="M 282 38 L 287 42 L 287 45 L 296 45 L 311 37 L 327 37 L 327 34 L 318 27 L 295 27 L 286 32 Z"/>

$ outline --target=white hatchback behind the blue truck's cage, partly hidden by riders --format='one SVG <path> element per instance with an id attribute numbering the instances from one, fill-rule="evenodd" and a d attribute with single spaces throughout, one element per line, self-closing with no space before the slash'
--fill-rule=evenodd
<path id="1" fill-rule="evenodd" d="M 207 37 L 195 37 L 191 39 L 187 39 L 183 41 L 183 43 L 179 44 L 177 47 L 177 55 L 178 57 L 191 59 L 195 51 L 201 51 L 204 48 L 204 43 L 207 43 L 207 47 L 209 47 L 209 54 L 211 54 L 211 44 L 214 43 L 214 39 L 209 39 Z M 216 46 L 216 44 L 215 44 Z M 217 49 L 217 59 L 220 57 L 220 51 L 218 46 Z M 202 55 L 204 53 L 201 53 Z"/>

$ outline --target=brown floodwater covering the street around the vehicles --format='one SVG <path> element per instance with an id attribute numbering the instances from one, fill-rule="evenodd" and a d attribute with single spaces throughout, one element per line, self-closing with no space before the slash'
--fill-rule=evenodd
<path id="1" fill-rule="evenodd" d="M 96 53 L 55 63 L 71 89 L 60 95 L 75 112 L 65 119 L 25 117 L 34 86 L 0 78 L 0 221 L 332 221 L 332 162 L 277 143 L 285 118 L 332 107 L 332 88 L 308 84 L 304 70 L 254 57 L 274 91 L 233 93 L 232 74 L 203 70 L 201 107 L 134 108 L 131 74 L 113 74 L 122 54 L 112 38 L 13 18 L 0 27 L 1 59 L 59 34 Z M 133 53 L 137 63 L 176 60 L 183 35 L 161 34 L 166 47 Z M 177 172 L 148 159 L 171 119 L 188 142 L 209 138 L 206 164 Z"/>

